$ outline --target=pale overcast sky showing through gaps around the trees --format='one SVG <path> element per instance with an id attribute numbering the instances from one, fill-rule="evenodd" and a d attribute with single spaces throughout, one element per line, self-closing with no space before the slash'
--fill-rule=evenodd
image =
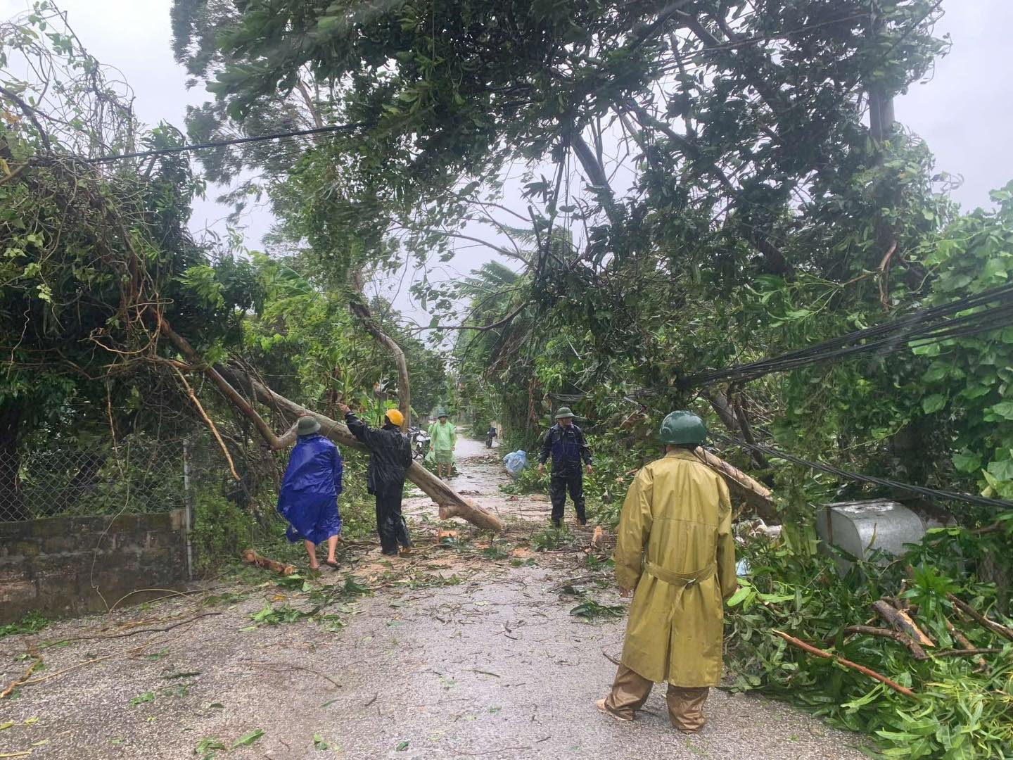
<path id="1" fill-rule="evenodd" d="M 89 52 L 123 71 L 137 94 L 140 119 L 148 125 L 165 121 L 181 128 L 186 105 L 210 96 L 200 87 L 186 90 L 185 73 L 172 59 L 171 4 L 171 0 L 60 1 Z M 28 8 L 29 0 L 0 0 L 4 18 Z M 938 61 L 930 81 L 913 85 L 899 98 L 897 118 L 928 141 L 937 169 L 963 176 L 954 197 L 968 209 L 987 205 L 989 191 L 1013 179 L 1013 0 L 944 0 L 943 9 L 946 15 L 936 30 L 952 36 L 952 52 Z M 209 192 L 210 197 L 215 195 L 214 189 Z M 199 203 L 191 227 L 221 230 L 226 213 L 213 201 Z M 247 246 L 259 245 L 269 223 L 263 211 L 248 217 Z M 462 250 L 455 268 L 467 272 L 488 257 L 474 248 Z"/>

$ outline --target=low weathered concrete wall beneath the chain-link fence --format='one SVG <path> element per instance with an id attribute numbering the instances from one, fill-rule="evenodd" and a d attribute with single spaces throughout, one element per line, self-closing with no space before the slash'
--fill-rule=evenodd
<path id="1" fill-rule="evenodd" d="M 0 523 L 0 623 L 30 610 L 104 611 L 132 591 L 179 588 L 185 579 L 182 510 Z"/>

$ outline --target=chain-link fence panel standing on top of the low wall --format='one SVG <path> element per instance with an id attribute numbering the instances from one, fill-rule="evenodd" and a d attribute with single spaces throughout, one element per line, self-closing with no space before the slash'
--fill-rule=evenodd
<path id="1" fill-rule="evenodd" d="M 186 493 L 181 441 L 0 452 L 0 522 L 167 512 Z"/>

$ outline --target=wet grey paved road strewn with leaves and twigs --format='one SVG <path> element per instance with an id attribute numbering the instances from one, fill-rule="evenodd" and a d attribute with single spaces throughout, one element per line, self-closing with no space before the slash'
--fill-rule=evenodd
<path id="1" fill-rule="evenodd" d="M 517 547 L 534 527 L 530 520 L 546 519 L 544 500 L 511 502 L 498 492 L 505 476 L 492 457 L 461 464 L 455 485 L 478 491 L 474 498 L 510 522 L 498 545 L 512 549 L 511 557 L 437 547 L 435 526 L 418 523 L 414 558 L 385 564 L 375 549 L 361 557 L 356 573 L 377 593 L 336 608 L 344 622 L 336 631 L 317 622 L 251 627 L 265 603 L 307 603 L 268 583 L 214 589 L 239 594 L 232 605 L 199 607 L 201 597 L 191 596 L 66 621 L 33 638 L 2 638 L 4 683 L 23 673 L 26 663 L 17 658 L 29 650 L 45 658 L 36 675 L 57 675 L 0 702 L 0 726 L 14 723 L 0 731 L 0 755 L 180 760 L 202 757 L 193 752 L 205 740 L 231 745 L 259 729 L 262 738 L 228 758 L 863 757 L 854 735 L 780 703 L 718 690 L 708 702 L 708 727 L 692 738 L 669 727 L 660 689 L 634 724 L 601 715 L 594 700 L 611 682 L 606 655 L 618 653 L 623 621 L 581 623 L 569 614 L 574 599 L 553 592 L 588 575 L 581 551 Z M 586 588 L 602 603 L 620 601 L 609 588 Z M 141 620 L 166 627 L 208 611 L 221 614 L 136 632 Z M 82 635 L 119 637 L 38 649 L 44 638 Z"/>

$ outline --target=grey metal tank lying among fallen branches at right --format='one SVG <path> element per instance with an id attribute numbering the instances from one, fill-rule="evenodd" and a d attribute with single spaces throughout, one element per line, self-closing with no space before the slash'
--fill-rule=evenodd
<path id="1" fill-rule="evenodd" d="M 822 551 L 838 546 L 852 556 L 867 558 L 874 549 L 893 556 L 905 553 L 906 543 L 918 543 L 925 535 L 922 518 L 903 504 L 887 499 L 827 504 L 816 513 L 816 534 Z M 834 555 L 841 575 L 852 562 Z"/>

